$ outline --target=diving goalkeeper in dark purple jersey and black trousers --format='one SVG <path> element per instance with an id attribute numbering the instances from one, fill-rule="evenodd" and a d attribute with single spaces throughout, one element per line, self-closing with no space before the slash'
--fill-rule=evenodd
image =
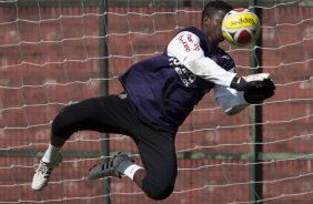
<path id="1" fill-rule="evenodd" d="M 232 58 L 219 48 L 221 24 L 232 7 L 210 1 L 201 30 L 185 28 L 164 53 L 132 65 L 120 76 L 124 92 L 84 100 L 60 111 L 52 123 L 51 142 L 33 175 L 32 188 L 42 190 L 61 160 L 60 150 L 77 131 L 120 133 L 133 139 L 143 167 L 128 155 L 90 169 L 90 180 L 125 175 L 153 200 L 166 198 L 178 174 L 174 137 L 194 105 L 210 90 L 228 115 L 274 94 L 269 73 L 236 76 Z"/>

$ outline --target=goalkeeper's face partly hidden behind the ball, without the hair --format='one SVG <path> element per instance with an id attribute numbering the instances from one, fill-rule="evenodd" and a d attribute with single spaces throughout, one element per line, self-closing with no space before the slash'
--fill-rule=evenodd
<path id="1" fill-rule="evenodd" d="M 203 19 L 203 30 L 212 43 L 220 43 L 224 40 L 222 35 L 222 21 L 225 14 L 224 11 L 218 11 L 212 17 Z"/>

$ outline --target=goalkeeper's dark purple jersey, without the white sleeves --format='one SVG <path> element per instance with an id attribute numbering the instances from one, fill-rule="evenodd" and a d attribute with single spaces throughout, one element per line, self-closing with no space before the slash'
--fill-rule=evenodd
<path id="1" fill-rule="evenodd" d="M 220 48 L 212 48 L 206 35 L 196 28 L 186 28 L 200 39 L 194 48 L 214 60 L 224 70 L 234 68 L 233 60 Z M 180 31 L 180 32 L 182 32 Z M 180 33 L 179 32 L 179 33 Z M 178 34 L 179 34 L 178 33 Z M 199 47 L 199 48 L 198 48 Z M 188 52 L 185 43 L 178 49 Z M 133 64 L 120 81 L 137 110 L 151 123 L 176 131 L 194 105 L 214 83 L 195 75 L 175 58 L 163 54 Z"/>

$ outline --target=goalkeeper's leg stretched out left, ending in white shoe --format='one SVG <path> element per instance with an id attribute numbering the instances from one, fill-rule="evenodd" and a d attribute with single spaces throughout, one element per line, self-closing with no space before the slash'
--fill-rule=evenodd
<path id="1" fill-rule="evenodd" d="M 33 175 L 32 188 L 40 191 L 61 160 L 60 150 L 77 131 L 127 133 L 132 115 L 128 115 L 125 101 L 117 95 L 93 98 L 69 105 L 60 111 L 52 123 L 50 144 Z"/>

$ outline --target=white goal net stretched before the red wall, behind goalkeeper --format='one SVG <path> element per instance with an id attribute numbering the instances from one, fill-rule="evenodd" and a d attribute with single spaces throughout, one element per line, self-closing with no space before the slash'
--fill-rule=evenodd
<path id="1" fill-rule="evenodd" d="M 107 92 L 120 93 L 119 75 L 162 53 L 178 30 L 200 27 L 205 2 L 0 0 L 0 203 L 154 203 L 128 178 L 87 180 L 90 166 L 118 151 L 140 163 L 132 140 L 119 134 L 75 133 L 49 185 L 33 192 L 30 183 L 60 109 Z M 213 94 L 206 94 L 179 130 L 179 175 L 173 194 L 161 203 L 254 203 L 255 197 L 263 203 L 309 203 L 313 200 L 313 3 L 226 2 L 262 11 L 260 47 L 222 44 L 241 75 L 262 69 L 275 81 L 275 95 L 262 104 L 258 123 L 262 141 L 250 136 L 256 123 L 250 122 L 249 109 L 226 116 Z M 262 51 L 262 61 L 251 68 L 255 49 Z M 258 163 L 251 161 L 255 145 L 262 150 Z M 252 169 L 255 164 L 261 170 Z M 256 172 L 261 181 L 251 178 Z M 253 184 L 262 184 L 261 193 Z"/>

